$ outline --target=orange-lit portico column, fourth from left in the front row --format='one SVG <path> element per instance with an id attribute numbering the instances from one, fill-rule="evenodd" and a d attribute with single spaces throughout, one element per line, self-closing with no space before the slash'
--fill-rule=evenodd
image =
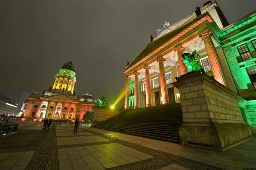
<path id="1" fill-rule="evenodd" d="M 157 59 L 159 62 L 159 74 L 160 74 L 160 88 L 161 88 L 161 101 L 162 104 L 168 104 L 168 96 L 167 96 L 167 86 L 166 86 L 166 75 L 164 70 L 164 58 L 160 57 Z"/>

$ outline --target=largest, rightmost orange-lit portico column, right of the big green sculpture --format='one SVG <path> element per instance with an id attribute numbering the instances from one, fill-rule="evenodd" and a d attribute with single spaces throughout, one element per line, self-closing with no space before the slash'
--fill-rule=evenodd
<path id="1" fill-rule="evenodd" d="M 204 40 L 204 45 L 208 54 L 208 58 L 212 67 L 212 73 L 214 75 L 215 80 L 217 80 L 224 86 L 227 86 L 223 71 L 221 69 L 220 61 L 218 59 L 217 51 L 212 42 L 211 35 L 211 31 L 208 29 L 206 32 L 203 32 L 201 35 L 199 35 L 199 37 L 201 37 Z"/>

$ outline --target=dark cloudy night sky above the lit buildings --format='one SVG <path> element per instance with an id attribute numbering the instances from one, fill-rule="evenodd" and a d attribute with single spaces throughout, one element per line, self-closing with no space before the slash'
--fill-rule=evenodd
<path id="1" fill-rule="evenodd" d="M 186 17 L 206 0 L 0 0 L 0 92 L 48 89 L 61 66 L 75 65 L 76 94 L 110 103 L 125 86 L 122 70 L 162 23 Z M 229 23 L 256 0 L 218 0 Z"/>

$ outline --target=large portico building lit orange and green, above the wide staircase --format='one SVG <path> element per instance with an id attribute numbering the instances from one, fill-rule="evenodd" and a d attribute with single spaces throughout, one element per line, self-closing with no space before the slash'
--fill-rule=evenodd
<path id="1" fill-rule="evenodd" d="M 218 4 L 207 1 L 195 13 L 170 25 L 123 70 L 125 109 L 180 102 L 172 83 L 188 72 L 183 53 L 196 50 L 207 75 L 240 95 L 247 124 L 256 125 L 256 12 L 229 24 Z"/>

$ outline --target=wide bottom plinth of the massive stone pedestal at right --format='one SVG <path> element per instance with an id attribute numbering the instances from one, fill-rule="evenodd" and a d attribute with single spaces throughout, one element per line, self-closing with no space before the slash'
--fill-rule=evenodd
<path id="1" fill-rule="evenodd" d="M 181 144 L 222 152 L 253 138 L 245 124 L 186 122 L 179 131 Z"/>

